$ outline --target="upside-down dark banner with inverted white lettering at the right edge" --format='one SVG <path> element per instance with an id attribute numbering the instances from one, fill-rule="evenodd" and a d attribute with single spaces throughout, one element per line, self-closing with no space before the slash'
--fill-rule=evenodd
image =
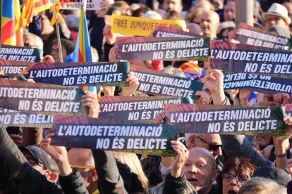
<path id="1" fill-rule="evenodd" d="M 251 89 L 260 93 L 292 93 L 292 79 L 252 75 L 224 74 L 224 89 Z"/>

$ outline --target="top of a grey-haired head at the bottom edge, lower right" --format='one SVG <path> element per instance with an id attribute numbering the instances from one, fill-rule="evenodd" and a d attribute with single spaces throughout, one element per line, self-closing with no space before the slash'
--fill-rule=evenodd
<path id="1" fill-rule="evenodd" d="M 264 192 L 266 194 L 284 194 L 287 193 L 285 188 L 282 188 L 272 179 L 265 179 L 262 177 L 254 177 L 243 184 L 239 190 L 239 194 L 245 192 L 259 193 Z"/>

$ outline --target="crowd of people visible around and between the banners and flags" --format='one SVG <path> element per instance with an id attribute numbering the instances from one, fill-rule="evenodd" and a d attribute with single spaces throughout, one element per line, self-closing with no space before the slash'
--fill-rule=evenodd
<path id="1" fill-rule="evenodd" d="M 108 15 L 129 15 L 157 20 L 185 20 L 188 31 L 228 41 L 236 29 L 236 3 L 232 0 L 128 0 L 101 1 L 101 10 L 87 11 L 94 62 L 116 61 L 116 37 Z M 44 62 L 71 62 L 78 34 L 80 11 L 61 11 L 61 51 L 51 11 L 35 15 L 24 33 L 25 46 L 44 51 Z M 254 26 L 291 37 L 292 1 L 254 1 Z M 198 91 L 203 105 L 282 105 L 285 93 L 267 95 L 246 89 L 224 91 L 224 75 L 208 61 L 130 61 L 131 64 L 196 79 L 205 84 Z M 1 72 L 1 71 L 0 71 Z M 26 75 L 23 71 L 20 75 Z M 33 82 L 33 80 L 28 80 Z M 141 96 L 139 82 L 128 73 L 129 87 L 104 86 L 86 91 L 82 104 L 87 117 L 99 115 L 102 96 Z M 206 90 L 207 89 L 207 90 Z M 165 122 L 164 112 L 155 119 Z M 137 155 L 64 148 L 50 145 L 54 131 L 13 127 L 0 122 L 0 193 L 292 193 L 292 118 L 284 117 L 287 136 L 183 134 L 171 141 L 175 157 Z"/>

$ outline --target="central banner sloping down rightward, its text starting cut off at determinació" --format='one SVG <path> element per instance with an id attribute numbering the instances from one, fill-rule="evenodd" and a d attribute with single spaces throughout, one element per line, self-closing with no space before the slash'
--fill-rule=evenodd
<path id="1" fill-rule="evenodd" d="M 138 65 L 130 65 L 130 70 L 139 80 L 137 91 L 154 96 L 177 96 L 197 100 L 196 91 L 202 91 L 204 84 L 195 80 L 175 77 L 163 72 L 146 69 Z"/>

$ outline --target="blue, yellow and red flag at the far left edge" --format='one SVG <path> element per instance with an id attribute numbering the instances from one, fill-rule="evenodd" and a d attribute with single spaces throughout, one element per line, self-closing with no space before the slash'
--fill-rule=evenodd
<path id="1" fill-rule="evenodd" d="M 19 0 L 5 0 L 2 3 L 1 44 L 23 46 L 23 30 L 15 30 L 20 18 Z"/>

